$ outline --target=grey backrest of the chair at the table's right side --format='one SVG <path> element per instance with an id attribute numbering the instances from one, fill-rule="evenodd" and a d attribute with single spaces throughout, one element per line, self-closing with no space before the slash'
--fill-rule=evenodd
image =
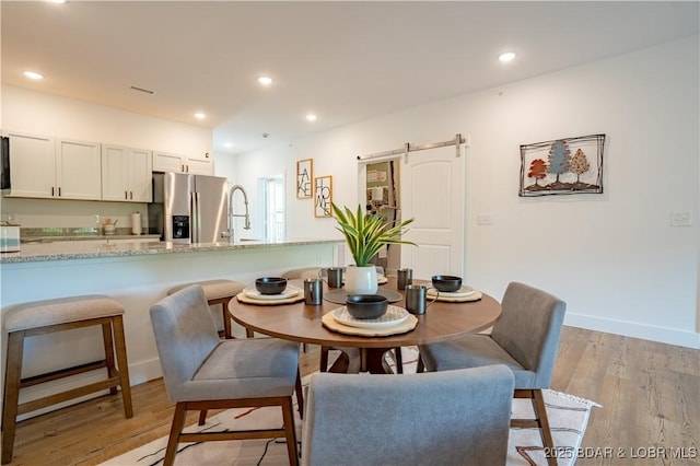
<path id="1" fill-rule="evenodd" d="M 560 299 L 523 283 L 510 283 L 503 294 L 491 338 L 535 373 L 529 388 L 549 387 L 565 310 Z"/>

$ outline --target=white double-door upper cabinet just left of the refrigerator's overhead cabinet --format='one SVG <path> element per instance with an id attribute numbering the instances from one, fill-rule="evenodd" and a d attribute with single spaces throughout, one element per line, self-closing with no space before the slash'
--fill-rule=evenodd
<path id="1" fill-rule="evenodd" d="M 151 151 L 102 145 L 102 199 L 150 202 L 153 198 Z"/>

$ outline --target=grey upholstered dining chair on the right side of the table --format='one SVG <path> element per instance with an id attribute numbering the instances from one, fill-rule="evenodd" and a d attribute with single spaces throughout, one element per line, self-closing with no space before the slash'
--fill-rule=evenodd
<path id="1" fill-rule="evenodd" d="M 501 303 L 501 317 L 491 335 L 469 335 L 455 340 L 419 346 L 428 371 L 450 371 L 505 364 L 515 376 L 515 398 L 533 401 L 536 419 L 513 419 L 512 427 L 538 428 L 544 446 L 553 448 L 542 388 L 549 388 L 565 303 L 536 288 L 512 282 Z M 556 465 L 556 457 L 548 457 Z"/>

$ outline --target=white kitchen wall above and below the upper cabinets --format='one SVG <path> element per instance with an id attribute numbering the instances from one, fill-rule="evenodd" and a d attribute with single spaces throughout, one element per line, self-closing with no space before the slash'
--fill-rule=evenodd
<path id="1" fill-rule="evenodd" d="M 2 86 L 2 130 L 127 145 L 182 155 L 209 152 L 212 131 L 195 125 L 164 120 L 95 105 L 74 98 Z M 95 214 L 130 225 L 130 214 L 145 212 L 144 203 L 2 199 L 2 213 L 15 217 L 23 228 L 90 228 Z M 143 221 L 148 215 L 142 215 Z"/>

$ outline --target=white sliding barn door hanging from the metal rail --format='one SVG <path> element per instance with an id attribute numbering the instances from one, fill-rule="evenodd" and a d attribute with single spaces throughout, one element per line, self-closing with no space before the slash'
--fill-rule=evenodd
<path id="1" fill-rule="evenodd" d="M 416 219 L 404 236 L 418 245 L 401 245 L 401 267 L 413 278 L 464 276 L 465 156 L 455 147 L 428 149 L 401 159 L 401 218 Z"/>

